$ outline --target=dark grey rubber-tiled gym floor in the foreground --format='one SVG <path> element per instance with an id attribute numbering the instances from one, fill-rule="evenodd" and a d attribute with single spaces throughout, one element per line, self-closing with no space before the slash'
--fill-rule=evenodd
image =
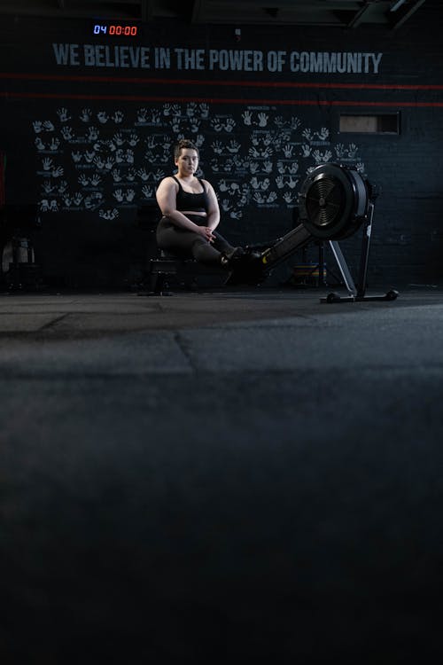
<path id="1" fill-rule="evenodd" d="M 3 665 L 443 655 L 443 291 L 0 294 Z"/>

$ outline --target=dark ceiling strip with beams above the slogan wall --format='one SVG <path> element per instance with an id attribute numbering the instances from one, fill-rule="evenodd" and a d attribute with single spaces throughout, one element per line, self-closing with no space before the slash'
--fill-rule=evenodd
<path id="1" fill-rule="evenodd" d="M 0 16 L 397 28 L 425 6 L 437 4 L 435 0 L 2 0 Z"/>

